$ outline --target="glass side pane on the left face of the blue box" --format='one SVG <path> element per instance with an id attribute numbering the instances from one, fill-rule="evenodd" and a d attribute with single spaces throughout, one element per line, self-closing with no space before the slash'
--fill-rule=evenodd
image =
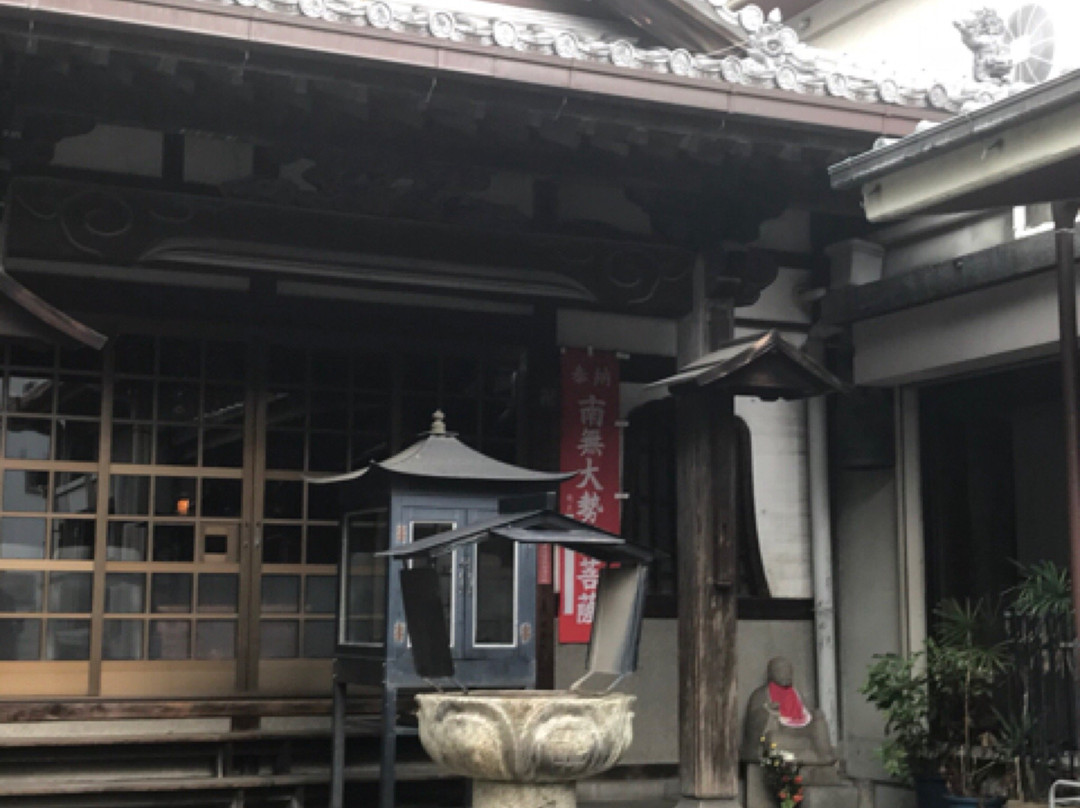
<path id="1" fill-rule="evenodd" d="M 386 636 L 387 560 L 375 553 L 384 550 L 390 538 L 387 512 L 350 514 L 346 530 L 349 567 L 343 642 L 381 645 Z"/>

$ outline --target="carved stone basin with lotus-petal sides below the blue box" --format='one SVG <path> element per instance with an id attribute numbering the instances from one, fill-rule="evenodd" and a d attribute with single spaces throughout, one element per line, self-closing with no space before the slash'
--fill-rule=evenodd
<path id="1" fill-rule="evenodd" d="M 633 739 L 625 693 L 421 693 L 420 742 L 473 780 L 473 808 L 575 808 L 575 781 L 615 766 Z"/>

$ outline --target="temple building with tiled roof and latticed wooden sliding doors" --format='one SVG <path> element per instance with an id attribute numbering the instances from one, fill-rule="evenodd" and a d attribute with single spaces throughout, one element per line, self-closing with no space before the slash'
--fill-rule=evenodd
<path id="1" fill-rule="evenodd" d="M 812 326 L 869 226 L 827 167 L 1005 93 L 867 70 L 730 5 L 0 0 L 0 802 L 325 804 L 305 750 L 327 735 L 340 514 L 311 479 L 436 409 L 494 458 L 591 469 L 595 435 L 567 466 L 567 355 L 613 368 L 621 443 L 609 499 L 571 515 L 618 512 L 657 553 L 626 763 L 678 776 L 678 425 L 648 385 L 770 329 L 850 378 L 851 318 Z M 737 706 L 787 657 L 843 758 L 814 609 L 823 427 L 802 402 L 735 407 L 756 522 Z M 584 650 L 559 571 L 541 686 Z"/>

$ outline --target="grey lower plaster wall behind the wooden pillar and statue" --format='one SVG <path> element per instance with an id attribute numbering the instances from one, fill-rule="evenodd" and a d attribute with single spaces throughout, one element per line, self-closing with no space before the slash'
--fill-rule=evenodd
<path id="1" fill-rule="evenodd" d="M 775 656 L 795 664 L 795 684 L 810 704 L 816 683 L 813 623 L 810 621 L 739 621 L 739 715 L 751 692 L 765 682 L 765 669 Z M 559 645 L 555 651 L 555 687 L 568 687 L 581 676 L 585 646 Z M 620 690 L 637 696 L 634 742 L 625 765 L 678 763 L 678 628 L 675 620 L 646 620 L 637 673 Z"/>

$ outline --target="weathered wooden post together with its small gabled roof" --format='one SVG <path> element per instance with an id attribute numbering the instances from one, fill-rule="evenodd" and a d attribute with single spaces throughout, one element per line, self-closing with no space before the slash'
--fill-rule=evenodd
<path id="1" fill-rule="evenodd" d="M 734 396 L 845 386 L 777 332 L 729 340 L 656 385 L 678 417 L 679 808 L 728 808 L 739 800 Z"/>

